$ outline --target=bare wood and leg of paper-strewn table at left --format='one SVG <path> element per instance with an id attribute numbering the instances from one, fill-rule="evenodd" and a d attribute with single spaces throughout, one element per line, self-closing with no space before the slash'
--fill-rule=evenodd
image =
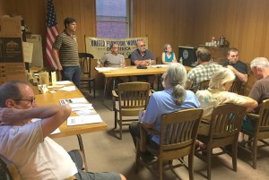
<path id="1" fill-rule="evenodd" d="M 39 106 L 59 105 L 60 104 L 59 99 L 84 98 L 80 90 L 64 91 L 64 90 L 58 90 L 58 88 L 53 88 L 53 89 L 48 89 L 48 90 L 57 90 L 57 91 L 56 93 L 46 92 L 44 94 L 36 94 L 35 98 Z M 76 116 L 76 115 L 74 112 L 72 112 L 71 116 Z M 73 125 L 73 126 L 67 126 L 67 121 L 65 121 L 63 124 L 59 126 L 61 133 L 51 134 L 49 135 L 49 137 L 59 138 L 59 137 L 76 135 L 79 142 L 80 149 L 84 152 L 81 134 L 104 131 L 107 129 L 107 127 L 108 125 L 103 121 L 99 124 L 82 124 L 82 125 Z M 84 156 L 84 159 L 85 159 L 85 156 Z"/>

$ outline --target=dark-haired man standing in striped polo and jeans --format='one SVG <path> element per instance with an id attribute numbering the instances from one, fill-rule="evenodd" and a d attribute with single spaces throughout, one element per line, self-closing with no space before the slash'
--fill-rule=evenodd
<path id="1" fill-rule="evenodd" d="M 65 30 L 56 37 L 52 47 L 52 57 L 61 71 L 63 81 L 73 81 L 77 88 L 81 87 L 81 67 L 79 64 L 78 44 L 74 32 L 74 18 L 65 18 Z M 59 54 L 59 56 L 58 56 Z"/>

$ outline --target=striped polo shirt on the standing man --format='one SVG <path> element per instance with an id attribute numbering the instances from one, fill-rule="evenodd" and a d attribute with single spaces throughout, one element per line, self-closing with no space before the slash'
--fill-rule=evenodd
<path id="1" fill-rule="evenodd" d="M 78 44 L 74 35 L 66 34 L 65 30 L 56 37 L 53 47 L 59 51 L 62 66 L 78 66 Z"/>

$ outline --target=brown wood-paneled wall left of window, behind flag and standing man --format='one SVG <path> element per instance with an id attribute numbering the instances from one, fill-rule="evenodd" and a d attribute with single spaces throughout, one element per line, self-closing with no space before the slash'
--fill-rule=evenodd
<path id="1" fill-rule="evenodd" d="M 4 9 L 5 13 L 9 15 L 12 15 L 13 13 L 21 14 L 30 32 L 32 34 L 42 35 L 44 45 L 43 47 L 45 47 L 47 33 L 46 19 L 48 1 L 0 1 L 5 1 L 3 4 L 0 4 L 0 10 Z M 59 31 L 61 32 L 65 29 L 65 17 L 74 17 L 78 24 L 76 35 L 79 44 L 79 52 L 85 52 L 84 37 L 96 36 L 95 0 L 54 0 L 54 4 Z M 47 60 L 45 60 L 44 63 L 48 63 Z"/>

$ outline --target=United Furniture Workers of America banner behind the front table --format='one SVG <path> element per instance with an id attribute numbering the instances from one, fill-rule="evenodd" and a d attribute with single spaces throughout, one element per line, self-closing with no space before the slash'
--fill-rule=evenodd
<path id="1" fill-rule="evenodd" d="M 136 42 L 143 40 L 145 47 L 148 48 L 148 38 L 128 38 L 128 39 L 105 39 L 85 37 L 86 52 L 100 59 L 107 53 L 110 53 L 111 44 L 117 43 L 119 46 L 119 54 L 128 58 L 128 56 L 136 49 Z"/>

